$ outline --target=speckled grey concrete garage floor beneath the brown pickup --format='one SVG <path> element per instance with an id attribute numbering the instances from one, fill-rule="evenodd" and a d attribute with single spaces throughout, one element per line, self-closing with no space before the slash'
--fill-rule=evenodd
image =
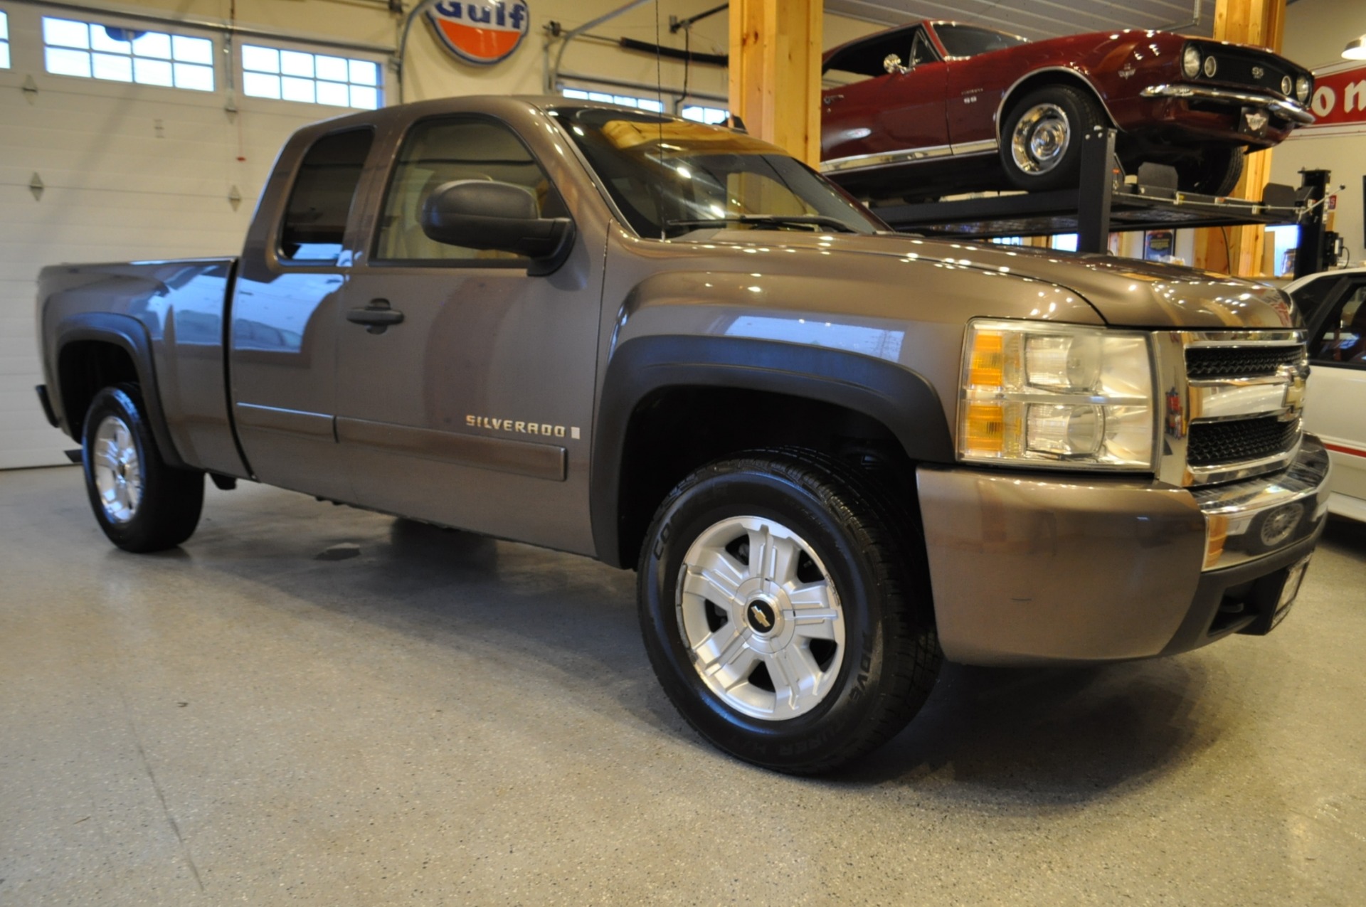
<path id="1" fill-rule="evenodd" d="M 1366 526 L 1270 637 L 949 668 L 821 780 L 698 740 L 632 583 L 251 485 L 131 556 L 0 473 L 0 903 L 1366 903 Z"/>

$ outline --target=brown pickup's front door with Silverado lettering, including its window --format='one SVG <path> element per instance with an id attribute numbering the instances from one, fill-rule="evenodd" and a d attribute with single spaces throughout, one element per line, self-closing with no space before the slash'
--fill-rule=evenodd
<path id="1" fill-rule="evenodd" d="M 523 187 L 568 212 L 527 145 L 488 116 L 418 120 L 337 313 L 337 438 L 357 500 L 417 519 L 590 553 L 589 428 L 602 254 L 568 261 L 429 239 L 451 180 Z"/>

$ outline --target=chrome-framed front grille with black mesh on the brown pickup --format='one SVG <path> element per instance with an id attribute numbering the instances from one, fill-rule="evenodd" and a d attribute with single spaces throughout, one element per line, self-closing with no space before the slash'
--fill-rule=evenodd
<path id="1" fill-rule="evenodd" d="M 1309 374 L 1303 332 L 1183 331 L 1156 340 L 1165 396 L 1160 478 L 1214 485 L 1290 464 Z"/>

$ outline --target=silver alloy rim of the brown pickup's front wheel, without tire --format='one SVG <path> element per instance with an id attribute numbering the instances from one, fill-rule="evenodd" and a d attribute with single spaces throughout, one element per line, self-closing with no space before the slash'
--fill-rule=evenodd
<path id="1" fill-rule="evenodd" d="M 676 613 L 693 667 L 728 706 L 781 721 L 831 691 L 844 658 L 840 596 L 781 523 L 731 516 L 683 555 Z"/>

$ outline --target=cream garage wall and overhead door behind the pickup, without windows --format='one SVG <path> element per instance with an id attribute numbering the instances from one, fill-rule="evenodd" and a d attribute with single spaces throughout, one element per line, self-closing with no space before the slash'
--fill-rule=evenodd
<path id="1" fill-rule="evenodd" d="M 38 269 L 64 261 L 236 254 L 285 137 L 303 123 L 346 112 L 240 93 L 234 98 L 238 112 L 225 111 L 229 96 L 223 34 L 184 22 L 224 23 L 234 5 L 238 25 L 295 38 L 281 42 L 239 36 L 239 45 L 337 53 L 309 44 L 309 38 L 321 38 L 393 48 L 403 23 L 403 16 L 389 12 L 384 0 L 145 0 L 137 5 L 0 0 L 0 11 L 8 15 L 11 49 L 11 67 L 0 70 L 0 469 L 64 463 L 61 451 L 72 447 L 70 438 L 46 425 L 33 392 L 42 380 L 34 328 Z M 413 0 L 404 5 L 411 8 Z M 526 41 L 494 67 L 456 61 L 440 48 L 425 20 L 415 22 L 407 45 L 406 98 L 540 94 L 545 25 L 559 20 L 572 29 L 620 8 L 624 0 L 529 0 L 529 5 L 531 30 Z M 668 31 L 669 16 L 686 18 L 713 5 L 716 0 L 660 0 L 660 41 L 683 48 L 684 36 Z M 153 14 L 182 25 L 149 23 L 120 12 Z M 210 38 L 219 60 L 217 90 L 51 75 L 42 60 L 44 14 Z M 725 53 L 728 27 L 724 12 L 697 23 L 691 48 Z M 826 16 L 825 29 L 825 44 L 833 46 L 877 26 Z M 656 5 L 632 10 L 594 29 L 594 34 L 611 41 L 654 41 Z M 653 56 L 622 51 L 611 41 L 575 41 L 563 68 L 645 86 L 656 82 Z M 346 56 L 385 60 L 373 53 Z M 396 102 L 393 72 L 387 71 L 387 101 Z M 665 89 L 682 86 L 682 63 L 663 61 L 658 78 Z M 22 90 L 30 79 L 37 90 Z M 693 92 L 727 94 L 721 67 L 691 67 L 687 82 Z M 44 184 L 40 198 L 29 189 L 34 173 Z M 242 197 L 235 208 L 228 199 L 234 189 Z"/>

